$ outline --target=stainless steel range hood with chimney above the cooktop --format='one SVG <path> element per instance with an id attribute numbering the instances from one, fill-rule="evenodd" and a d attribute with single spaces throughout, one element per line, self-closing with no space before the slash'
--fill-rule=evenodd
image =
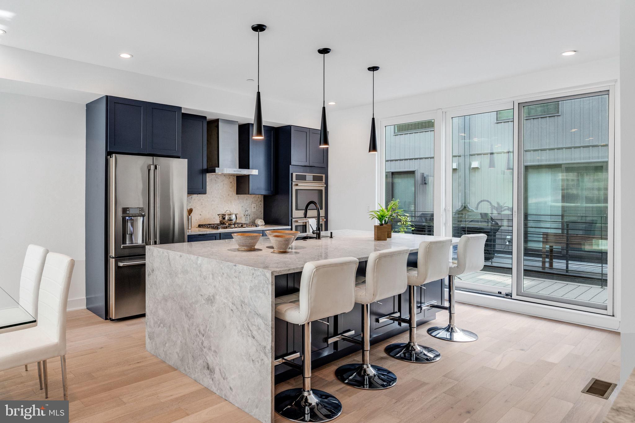
<path id="1" fill-rule="evenodd" d="M 222 175 L 258 174 L 258 169 L 241 169 L 238 162 L 238 122 L 227 119 L 209 120 L 207 122 L 207 172 Z"/>

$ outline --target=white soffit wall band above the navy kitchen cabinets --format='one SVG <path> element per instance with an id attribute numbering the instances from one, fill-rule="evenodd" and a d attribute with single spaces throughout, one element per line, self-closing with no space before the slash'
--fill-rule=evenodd
<path id="1" fill-rule="evenodd" d="M 241 123 L 251 122 L 253 119 L 256 93 L 231 93 L 2 45 L 0 63 L 2 91 L 30 93 L 41 97 L 74 98 L 76 100 L 73 101 L 78 103 L 87 103 L 108 94 L 201 110 L 207 112 L 208 117 L 213 114 L 215 117 L 248 118 Z M 308 108 L 274 101 L 267 96 L 267 89 L 273 88 L 262 86 L 265 124 L 319 127 L 319 103 Z M 36 92 L 38 94 L 33 94 Z M 86 93 L 93 95 L 87 100 Z"/>

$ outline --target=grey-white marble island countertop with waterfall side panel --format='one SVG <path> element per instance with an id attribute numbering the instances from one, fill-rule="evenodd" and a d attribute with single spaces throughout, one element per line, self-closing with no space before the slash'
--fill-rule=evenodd
<path id="1" fill-rule="evenodd" d="M 356 257 L 438 237 L 333 231 L 333 238 L 296 241 L 289 254 L 236 251 L 234 240 L 146 248 L 145 348 L 262 422 L 273 421 L 274 283 L 309 261 Z M 455 242 L 458 240 L 455 240 Z"/>

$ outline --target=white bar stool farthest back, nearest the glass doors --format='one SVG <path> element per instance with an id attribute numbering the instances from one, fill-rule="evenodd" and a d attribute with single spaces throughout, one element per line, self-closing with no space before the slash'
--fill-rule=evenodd
<path id="1" fill-rule="evenodd" d="M 450 313 L 450 323 L 447 326 L 435 326 L 428 329 L 428 334 L 438 339 L 451 342 L 472 342 L 478 339 L 478 335 L 469 330 L 459 329 L 455 325 L 455 282 L 454 278 L 479 271 L 485 266 L 485 240 L 487 235 L 475 233 L 463 235 L 458 241 L 457 261 L 450 263 L 450 278 L 448 279 L 448 306 L 435 306 L 435 308 L 447 309 Z"/>

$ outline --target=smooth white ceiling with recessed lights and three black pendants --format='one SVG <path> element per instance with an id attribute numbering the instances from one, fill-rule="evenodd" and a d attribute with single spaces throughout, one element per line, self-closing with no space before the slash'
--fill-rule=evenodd
<path id="1" fill-rule="evenodd" d="M 105 67 L 338 108 L 618 55 L 617 0 L 0 0 L 0 43 Z M 561 56 L 575 49 L 575 56 Z M 131 53 L 133 58 L 119 58 Z"/>

